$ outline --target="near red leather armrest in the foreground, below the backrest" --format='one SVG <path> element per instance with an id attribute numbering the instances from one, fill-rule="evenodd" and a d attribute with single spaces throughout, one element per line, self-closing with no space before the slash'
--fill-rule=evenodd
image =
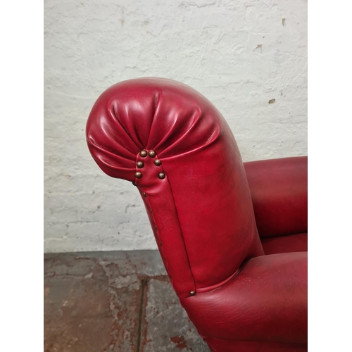
<path id="1" fill-rule="evenodd" d="M 306 344 L 307 253 L 252 258 L 219 289 L 180 301 L 206 339 Z"/>

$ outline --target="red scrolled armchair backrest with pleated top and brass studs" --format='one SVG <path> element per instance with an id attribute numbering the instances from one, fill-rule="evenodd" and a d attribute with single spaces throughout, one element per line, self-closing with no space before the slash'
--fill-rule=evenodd
<path id="1" fill-rule="evenodd" d="M 263 255 L 239 149 L 199 92 L 160 78 L 115 84 L 92 108 L 87 142 L 103 172 L 137 185 L 180 298 Z"/>

